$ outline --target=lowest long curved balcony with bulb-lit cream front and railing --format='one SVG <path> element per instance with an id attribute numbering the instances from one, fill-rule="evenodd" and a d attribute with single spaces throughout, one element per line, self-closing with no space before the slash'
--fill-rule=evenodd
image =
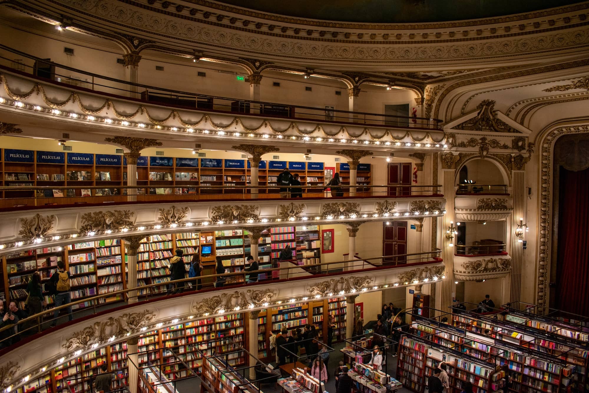
<path id="1" fill-rule="evenodd" d="M 79 309 L 73 322 L 37 333 L 43 323 L 50 322 L 48 319 L 43 321 L 42 313 L 19 321 L 18 325 L 23 327 L 21 334 L 26 332 L 34 334 L 0 352 L 0 365 L 11 369 L 11 374 L 6 375 L 3 382 L 6 385 L 12 385 L 13 389 L 18 388 L 24 384 L 26 375 L 37 378 L 44 375 L 45 371 L 91 352 L 95 348 L 123 342 L 140 335 L 147 329 L 171 326 L 184 320 L 221 316 L 236 310 L 256 311 L 282 303 L 305 302 L 307 299 L 326 299 L 380 291 L 392 286 L 436 282 L 445 278 L 444 264 L 438 257 L 439 252 L 435 250 L 420 254 L 406 254 L 403 257 L 408 263 L 402 266 L 387 263 L 386 261 L 391 259 L 390 256 L 368 258 L 367 262 L 382 264 L 369 268 L 350 265 L 351 270 L 344 272 L 341 271 L 342 264 L 349 261 L 317 264 L 316 273 L 307 272 L 305 275 L 298 271 L 299 267 L 259 270 L 260 273 L 269 273 L 267 277 L 270 279 L 247 284 L 247 286 L 239 283 L 223 288 L 207 287 L 207 282 L 220 276 L 213 274 L 200 277 L 203 280 L 204 289 L 198 292 L 187 289 L 187 292 L 170 296 L 161 296 L 161 293 L 155 292 L 146 300 L 123 303 L 114 309 L 109 307 L 101 309 L 97 303 L 105 297 L 117 295 L 123 297 L 124 302 L 128 299 L 134 300 L 137 293 L 141 293 L 142 290 L 155 288 L 161 284 L 87 298 L 84 302 L 92 302 L 90 307 Z M 426 261 L 419 262 L 423 259 Z M 277 273 L 270 274 L 274 271 Z M 284 274 L 281 273 L 283 271 L 292 271 L 298 277 L 289 280 L 272 279 L 272 277 L 283 276 Z M 286 273 L 286 275 L 289 274 Z M 243 277 L 243 273 L 226 273 L 222 276 Z M 292 277 L 293 274 L 290 276 Z M 191 281 L 194 279 L 172 282 L 181 284 Z M 76 304 L 75 302 L 65 304 L 55 307 L 54 310 L 65 309 L 67 306 Z M 10 328 L 0 327 L 0 333 Z"/>

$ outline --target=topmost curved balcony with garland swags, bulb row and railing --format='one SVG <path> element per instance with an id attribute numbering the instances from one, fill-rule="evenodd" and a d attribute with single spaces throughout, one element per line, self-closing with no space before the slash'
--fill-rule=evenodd
<path id="1" fill-rule="evenodd" d="M 336 146 L 361 143 L 362 147 L 370 149 L 385 149 L 389 145 L 412 150 L 444 149 L 444 132 L 435 119 L 411 118 L 423 124 L 397 127 L 389 125 L 399 120 L 395 116 L 378 113 L 335 109 L 326 112 L 325 108 L 173 91 L 89 74 L 3 45 L 0 48 L 28 61 L 47 64 L 55 70 L 52 78 L 59 80 L 30 76 L 28 73 L 33 74 L 34 67 L 26 63 L 22 64 L 25 72 L 12 70 L 6 66 L 12 60 L 1 57 L 4 66 L 0 68 L 4 71 L 0 76 L 6 96 L 0 100 L 0 112 L 4 112 L 5 121 L 38 126 L 41 118 L 58 120 L 59 125 L 52 123 L 51 126 L 58 127 L 60 132 L 69 131 L 77 140 L 91 140 L 87 134 L 97 131 L 104 139 L 105 130 L 114 132 L 123 128 L 138 134 L 149 133 L 152 137 L 166 135 L 167 139 L 192 142 L 202 138 L 206 139 L 207 146 L 220 149 L 226 149 L 222 141 L 228 140 L 271 142 L 273 145 L 289 143 L 307 148 L 312 143 L 316 148 L 325 149 L 333 149 L 334 142 Z M 91 82 L 81 87 L 80 81 L 65 77 L 66 72 Z M 141 99 L 124 97 L 133 96 L 138 89 L 144 89 Z M 34 91 L 42 93 L 32 94 Z M 31 121 L 35 117 L 37 120 Z M 97 127 L 99 130 L 95 129 Z M 47 137 L 47 129 L 44 131 L 43 136 Z"/>

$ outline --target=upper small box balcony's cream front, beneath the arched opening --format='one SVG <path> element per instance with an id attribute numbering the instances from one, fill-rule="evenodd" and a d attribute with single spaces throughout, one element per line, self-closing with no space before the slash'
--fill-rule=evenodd
<path id="1" fill-rule="evenodd" d="M 513 199 L 506 196 L 456 195 L 456 221 L 499 221 L 511 215 Z"/>

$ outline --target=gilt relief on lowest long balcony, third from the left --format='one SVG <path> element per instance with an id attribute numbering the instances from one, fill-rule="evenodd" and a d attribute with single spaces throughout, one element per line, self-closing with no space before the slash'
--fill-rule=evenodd
<path id="1" fill-rule="evenodd" d="M 271 302 L 278 296 L 277 290 L 263 289 L 247 291 L 234 291 L 231 293 L 221 293 L 211 297 L 206 297 L 193 306 L 193 309 L 200 315 L 209 315 L 219 312 L 219 310 L 235 310 L 236 307 L 246 311 L 250 304 L 254 307 L 262 306 L 263 303 Z"/>

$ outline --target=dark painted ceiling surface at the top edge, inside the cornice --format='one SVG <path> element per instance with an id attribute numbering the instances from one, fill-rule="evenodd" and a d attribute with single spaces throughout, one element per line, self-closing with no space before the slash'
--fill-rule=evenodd
<path id="1" fill-rule="evenodd" d="M 360 23 L 444 22 L 499 17 L 575 4 L 571 0 L 217 0 L 289 17 Z"/>

